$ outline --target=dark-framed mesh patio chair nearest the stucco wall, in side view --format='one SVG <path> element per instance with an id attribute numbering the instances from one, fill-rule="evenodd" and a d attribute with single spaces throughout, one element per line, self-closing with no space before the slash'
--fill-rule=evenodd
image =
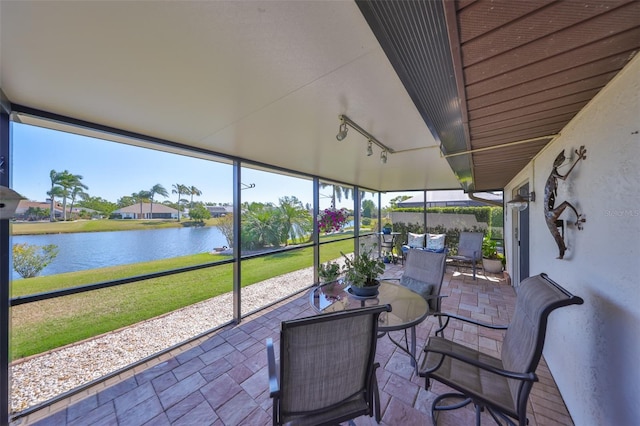
<path id="1" fill-rule="evenodd" d="M 520 426 L 526 425 L 527 400 L 533 383 L 538 381 L 535 372 L 542 356 L 547 318 L 557 308 L 582 303 L 580 297 L 572 295 L 547 275 L 540 274 L 527 278 L 518 288 L 515 312 L 508 326 L 436 314 L 444 319 L 444 326 L 427 341 L 419 375 L 425 377 L 425 388 L 429 388 L 430 379 L 434 379 L 456 392 L 435 398 L 431 405 L 433 424 L 436 424 L 437 411 L 454 410 L 473 403 L 476 425 L 480 424 L 480 412 L 483 409 L 487 409 L 498 424 L 502 424 L 502 420 L 514 425 L 510 419 L 513 418 Z M 446 339 L 443 331 L 451 319 L 506 330 L 500 358 Z M 463 401 L 439 405 L 450 398 L 461 398 Z"/>

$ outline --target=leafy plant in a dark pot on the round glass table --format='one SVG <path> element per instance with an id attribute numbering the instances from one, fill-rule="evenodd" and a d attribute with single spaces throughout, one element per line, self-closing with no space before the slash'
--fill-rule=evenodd
<path id="1" fill-rule="evenodd" d="M 350 257 L 341 252 L 345 259 L 344 279 L 356 296 L 375 296 L 378 294 L 380 286 L 378 276 L 384 272 L 384 262 L 375 258 L 371 252 L 372 249 L 364 249 L 364 244 L 358 256 Z"/>

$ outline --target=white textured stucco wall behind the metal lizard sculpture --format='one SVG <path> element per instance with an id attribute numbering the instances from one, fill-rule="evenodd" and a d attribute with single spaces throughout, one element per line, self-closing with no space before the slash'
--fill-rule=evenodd
<path id="1" fill-rule="evenodd" d="M 551 314 L 544 356 L 576 425 L 640 424 L 640 55 L 505 188 L 529 181 L 530 274 L 546 272 L 584 305 Z M 544 185 L 556 155 L 580 145 L 587 158 L 566 182 L 567 200 L 586 215 L 558 248 L 544 221 Z M 575 158 L 572 154 L 571 159 Z M 561 169 L 566 171 L 567 168 Z M 507 214 L 511 234 L 514 214 Z M 570 212 L 562 219 L 573 220 Z M 505 240 L 508 250 L 512 235 Z"/>

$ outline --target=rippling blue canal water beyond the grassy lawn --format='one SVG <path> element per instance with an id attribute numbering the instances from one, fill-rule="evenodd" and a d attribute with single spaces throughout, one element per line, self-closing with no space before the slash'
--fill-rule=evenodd
<path id="1" fill-rule="evenodd" d="M 58 246 L 58 256 L 42 270 L 43 276 L 205 253 L 227 245 L 227 240 L 218 228 L 207 226 L 20 235 L 11 243 Z M 21 278 L 15 271 L 12 274 L 13 279 Z"/>

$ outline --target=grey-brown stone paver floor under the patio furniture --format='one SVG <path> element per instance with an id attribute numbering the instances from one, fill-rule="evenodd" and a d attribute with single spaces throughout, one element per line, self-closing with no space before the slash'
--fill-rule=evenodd
<path id="1" fill-rule="evenodd" d="M 399 277 L 392 266 L 385 276 Z M 476 281 L 466 271 L 449 268 L 442 287 L 443 311 L 478 320 L 506 324 L 515 303 L 514 289 L 504 280 L 480 273 Z M 17 419 L 18 425 L 268 425 L 271 399 L 267 384 L 265 339 L 278 340 L 280 322 L 314 315 L 306 294 L 281 302 L 146 365 L 114 377 L 50 407 Z M 453 325 L 453 324 L 452 324 Z M 417 328 L 418 347 L 437 327 L 427 319 Z M 449 327 L 451 328 L 451 326 Z M 452 328 L 455 340 L 498 355 L 502 333 L 478 336 L 475 327 Z M 395 332 L 400 339 L 402 332 Z M 277 347 L 277 345 L 276 345 Z M 378 385 L 382 425 L 429 425 L 431 401 L 448 388 L 434 382 L 424 389 L 409 358 L 387 337 L 378 342 Z M 529 398 L 529 424 L 572 425 L 544 359 L 540 381 Z M 441 413 L 441 426 L 474 424 L 472 407 Z M 483 424 L 494 424 L 487 413 Z M 373 418 L 355 419 L 358 426 L 377 424 Z"/>

